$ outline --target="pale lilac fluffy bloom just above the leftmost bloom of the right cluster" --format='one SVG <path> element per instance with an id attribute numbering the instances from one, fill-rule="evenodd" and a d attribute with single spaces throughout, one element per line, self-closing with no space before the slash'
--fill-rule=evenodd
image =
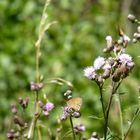
<path id="1" fill-rule="evenodd" d="M 100 57 L 100 56 L 99 56 L 98 58 L 95 59 L 93 66 L 94 66 L 94 69 L 95 69 L 95 70 L 98 70 L 98 69 L 100 69 L 104 64 L 105 64 L 105 59 L 104 59 L 103 57 Z"/>

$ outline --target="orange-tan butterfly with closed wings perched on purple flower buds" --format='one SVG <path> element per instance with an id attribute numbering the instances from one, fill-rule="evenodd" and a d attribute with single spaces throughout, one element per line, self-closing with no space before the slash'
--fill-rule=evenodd
<path id="1" fill-rule="evenodd" d="M 79 111 L 82 106 L 82 98 L 75 97 L 67 101 L 68 107 L 74 109 L 75 111 Z"/>

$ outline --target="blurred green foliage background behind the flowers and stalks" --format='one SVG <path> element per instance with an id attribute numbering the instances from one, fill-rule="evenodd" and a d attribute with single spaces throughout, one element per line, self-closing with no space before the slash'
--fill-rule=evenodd
<path id="1" fill-rule="evenodd" d="M 10 105 L 19 97 L 34 96 L 29 90 L 30 81 L 35 80 L 35 41 L 37 40 L 45 0 L 0 0 L 0 139 L 4 140 L 10 129 L 12 113 Z M 46 33 L 41 51 L 40 71 L 45 79 L 52 77 L 64 78 L 74 85 L 74 96 L 83 98 L 82 116 L 79 123 L 86 125 L 85 135 L 90 137 L 92 131 L 99 134 L 102 130 L 100 120 L 89 116 L 101 116 L 98 88 L 95 83 L 83 76 L 83 69 L 92 65 L 97 56 L 105 56 L 106 35 L 118 39 L 118 27 L 132 37 L 136 26 L 127 20 L 129 13 L 140 18 L 139 0 L 52 0 L 48 7 L 50 21 L 57 21 Z M 138 85 L 140 79 L 140 44 L 130 44 L 128 52 L 133 56 L 136 66 L 120 91 L 122 109 L 126 121 L 135 112 L 138 102 Z M 108 88 L 108 87 L 107 87 Z M 49 119 L 51 126 L 56 128 L 57 116 L 61 114 L 65 87 L 48 86 L 44 93 L 55 103 L 56 111 Z M 55 96 L 54 96 L 55 95 Z M 55 97 L 55 98 L 54 98 Z M 31 109 L 25 117 L 30 120 Z M 113 124 L 111 128 L 120 133 L 117 115 L 111 112 Z M 139 140 L 140 126 L 132 128 L 129 139 Z M 48 119 L 42 118 L 48 125 Z M 66 122 L 67 125 L 69 122 Z M 55 133 L 55 129 L 53 129 Z M 44 139 L 47 128 L 43 130 Z"/>

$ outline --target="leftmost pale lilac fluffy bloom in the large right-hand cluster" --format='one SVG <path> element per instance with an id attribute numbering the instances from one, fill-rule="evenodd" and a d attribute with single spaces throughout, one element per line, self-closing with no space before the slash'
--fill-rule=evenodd
<path id="1" fill-rule="evenodd" d="M 84 76 L 89 78 L 90 80 L 94 80 L 96 77 L 95 69 L 92 66 L 85 68 Z"/>

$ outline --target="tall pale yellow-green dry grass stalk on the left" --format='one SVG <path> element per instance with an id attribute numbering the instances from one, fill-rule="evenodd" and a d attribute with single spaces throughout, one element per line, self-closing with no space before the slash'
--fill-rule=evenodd
<path id="1" fill-rule="evenodd" d="M 40 51 L 41 42 L 42 42 L 42 39 L 44 37 L 45 31 L 48 30 L 50 25 L 52 24 L 52 23 L 46 22 L 46 20 L 48 18 L 48 15 L 46 13 L 46 9 L 47 9 L 49 3 L 50 3 L 50 0 L 46 0 L 45 6 L 43 9 L 43 13 L 42 13 L 42 18 L 41 18 L 40 25 L 39 25 L 38 40 L 35 43 L 35 48 L 36 48 L 36 57 L 35 57 L 35 60 L 36 60 L 36 83 L 37 84 L 40 83 L 39 66 L 40 66 L 40 56 L 41 56 L 41 51 Z M 34 108 L 35 108 L 34 109 L 34 116 L 32 118 L 32 122 L 31 122 L 31 125 L 29 128 L 29 131 L 28 131 L 28 135 L 27 135 L 28 139 L 34 138 L 36 123 L 37 123 L 37 120 L 40 116 L 40 114 L 38 114 L 38 105 L 37 105 L 38 98 L 39 98 L 38 95 L 39 95 L 39 91 L 36 91 L 35 92 L 35 103 L 34 103 Z"/>

